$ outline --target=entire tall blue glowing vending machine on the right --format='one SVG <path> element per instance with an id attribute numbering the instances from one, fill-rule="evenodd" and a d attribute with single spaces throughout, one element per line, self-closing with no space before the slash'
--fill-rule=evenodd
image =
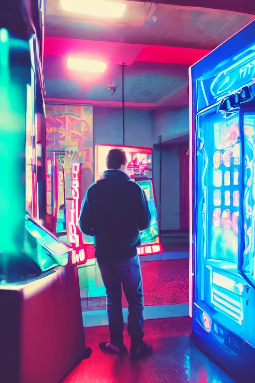
<path id="1" fill-rule="evenodd" d="M 189 75 L 192 337 L 255 382 L 255 22 Z"/>

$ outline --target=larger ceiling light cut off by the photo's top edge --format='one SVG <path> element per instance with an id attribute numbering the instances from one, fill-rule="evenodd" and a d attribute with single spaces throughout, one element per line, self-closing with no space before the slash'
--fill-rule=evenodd
<path id="1" fill-rule="evenodd" d="M 127 4 L 107 0 L 61 0 L 61 6 L 69 12 L 104 18 L 118 18 L 123 16 Z"/>

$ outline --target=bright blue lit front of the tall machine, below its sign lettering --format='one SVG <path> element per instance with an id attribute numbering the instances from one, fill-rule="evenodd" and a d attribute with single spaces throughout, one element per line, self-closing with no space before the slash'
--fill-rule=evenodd
<path id="1" fill-rule="evenodd" d="M 255 346 L 255 108 L 245 110 L 197 117 L 195 303 Z"/>

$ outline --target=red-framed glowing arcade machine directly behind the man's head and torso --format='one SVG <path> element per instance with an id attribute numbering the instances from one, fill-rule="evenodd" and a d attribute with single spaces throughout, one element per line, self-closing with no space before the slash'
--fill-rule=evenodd
<path id="1" fill-rule="evenodd" d="M 157 222 L 157 210 L 155 205 L 155 193 L 152 179 L 152 150 L 149 148 L 135 148 L 128 146 L 96 145 L 95 148 L 95 181 L 106 170 L 106 158 L 112 148 L 121 148 L 128 158 L 127 174 L 145 192 L 150 214 L 150 226 L 142 230 L 141 245 L 138 247 L 139 255 L 151 255 L 162 253 L 162 245 Z"/>

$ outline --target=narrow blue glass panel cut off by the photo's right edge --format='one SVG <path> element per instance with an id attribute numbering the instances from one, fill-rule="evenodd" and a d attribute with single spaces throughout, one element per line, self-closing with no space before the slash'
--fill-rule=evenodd
<path id="1" fill-rule="evenodd" d="M 255 114 L 244 115 L 245 147 L 245 190 L 244 190 L 244 229 L 245 251 L 244 271 L 255 282 Z"/>

